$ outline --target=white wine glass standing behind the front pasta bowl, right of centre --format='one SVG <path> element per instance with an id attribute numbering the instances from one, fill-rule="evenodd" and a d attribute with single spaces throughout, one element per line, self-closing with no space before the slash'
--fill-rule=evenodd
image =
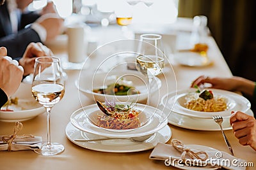
<path id="1" fill-rule="evenodd" d="M 161 35 L 141 34 L 136 68 L 147 76 L 148 79 L 148 105 L 150 104 L 151 82 L 154 76 L 160 74 L 164 67 L 164 53 L 162 48 Z"/>

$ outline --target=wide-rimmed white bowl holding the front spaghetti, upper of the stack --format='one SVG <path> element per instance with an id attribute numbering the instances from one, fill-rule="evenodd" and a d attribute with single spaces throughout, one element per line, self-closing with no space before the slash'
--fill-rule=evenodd
<path id="1" fill-rule="evenodd" d="M 125 106 L 126 105 L 127 104 L 125 103 Z M 102 117 L 104 118 L 104 113 L 100 111 L 97 104 L 84 106 L 83 108 L 74 111 L 70 117 L 70 122 L 74 127 L 83 132 L 89 132 L 108 138 L 134 138 L 138 136 L 146 136 L 148 134 L 154 134 L 168 124 L 167 118 L 162 116 L 163 112 L 157 108 L 146 104 L 136 103 L 133 109 L 136 110 L 135 115 L 137 112 L 139 113 L 136 117 L 140 120 L 140 124 L 136 123 L 136 121 L 132 121 L 134 126 L 131 129 L 116 129 L 115 126 L 113 126 L 114 129 L 99 127 L 99 125 L 97 125 L 98 121 L 101 120 Z M 112 120 L 114 119 L 111 118 L 111 121 Z M 131 122 L 131 120 L 128 119 L 128 122 Z M 104 122 L 108 122 L 108 119 L 104 120 Z M 118 122 L 118 125 L 120 125 L 120 122 Z M 129 124 L 127 124 L 127 126 L 128 125 Z"/>

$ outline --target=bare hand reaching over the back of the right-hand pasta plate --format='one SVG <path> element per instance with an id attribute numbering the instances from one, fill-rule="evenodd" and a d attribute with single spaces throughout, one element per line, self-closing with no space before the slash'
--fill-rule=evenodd
<path id="1" fill-rule="evenodd" d="M 213 89 L 222 89 L 222 90 L 237 90 L 237 80 L 233 78 L 210 78 L 208 76 L 199 76 L 196 80 L 191 83 L 190 87 L 195 87 L 195 85 L 200 86 L 204 83 L 211 84 Z"/>

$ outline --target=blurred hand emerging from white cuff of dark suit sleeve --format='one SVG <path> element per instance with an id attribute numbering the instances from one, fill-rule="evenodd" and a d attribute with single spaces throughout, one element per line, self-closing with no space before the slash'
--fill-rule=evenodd
<path id="1" fill-rule="evenodd" d="M 42 15 L 36 23 L 44 27 L 47 32 L 46 41 L 54 39 L 63 31 L 63 18 L 60 18 L 56 13 L 47 13 Z"/>

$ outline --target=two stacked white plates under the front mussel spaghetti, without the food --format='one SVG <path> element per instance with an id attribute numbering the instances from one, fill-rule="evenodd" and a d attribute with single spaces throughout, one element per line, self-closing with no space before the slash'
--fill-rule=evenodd
<path id="1" fill-rule="evenodd" d="M 67 138 L 76 145 L 101 152 L 139 152 L 154 148 L 157 143 L 166 143 L 172 136 L 168 120 L 163 119 L 162 111 L 145 104 L 136 104 L 140 110 L 140 127 L 134 129 L 106 129 L 97 126 L 97 117 L 102 115 L 97 104 L 74 111 L 66 127 Z M 148 136 L 144 141 L 135 139 Z M 118 138 L 106 141 L 75 141 L 75 139 Z"/>

